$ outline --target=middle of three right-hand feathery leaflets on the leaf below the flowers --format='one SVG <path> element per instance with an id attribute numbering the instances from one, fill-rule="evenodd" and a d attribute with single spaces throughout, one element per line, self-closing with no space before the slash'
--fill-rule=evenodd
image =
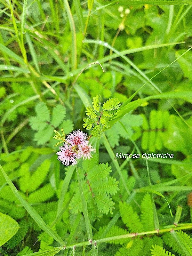
<path id="1" fill-rule="evenodd" d="M 108 195 L 115 195 L 117 191 L 119 190 L 118 188 L 118 183 L 119 181 L 113 177 L 109 178 L 104 178 L 100 180 L 93 181 L 91 183 L 91 187 L 93 190 L 93 193 L 95 195 L 103 195 L 103 194 L 108 194 Z"/>

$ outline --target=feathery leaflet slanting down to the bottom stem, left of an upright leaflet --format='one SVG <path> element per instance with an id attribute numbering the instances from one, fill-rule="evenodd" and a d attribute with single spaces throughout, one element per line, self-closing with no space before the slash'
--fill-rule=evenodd
<path id="1" fill-rule="evenodd" d="M 143 224 L 141 223 L 137 212 L 133 212 L 131 205 L 120 201 L 119 210 L 124 224 L 129 228 L 131 233 L 143 232 Z"/>

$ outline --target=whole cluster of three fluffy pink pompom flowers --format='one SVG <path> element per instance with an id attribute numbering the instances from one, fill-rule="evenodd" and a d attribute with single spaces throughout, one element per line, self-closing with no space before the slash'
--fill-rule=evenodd
<path id="1" fill-rule="evenodd" d="M 59 147 L 60 151 L 57 152 L 58 159 L 64 164 L 75 165 L 76 159 L 90 159 L 92 157 L 91 152 L 95 149 L 89 144 L 86 133 L 76 130 L 69 133 L 66 137 L 63 146 Z"/>

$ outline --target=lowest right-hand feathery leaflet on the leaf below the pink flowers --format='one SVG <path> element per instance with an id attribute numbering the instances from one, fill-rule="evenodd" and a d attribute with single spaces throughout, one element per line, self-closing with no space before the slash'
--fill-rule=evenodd
<path id="1" fill-rule="evenodd" d="M 113 209 L 115 207 L 113 206 L 115 203 L 112 201 L 112 198 L 109 197 L 109 195 L 99 195 L 95 197 L 95 204 L 97 204 L 97 208 L 100 212 L 108 214 L 110 212 L 113 214 Z"/>

